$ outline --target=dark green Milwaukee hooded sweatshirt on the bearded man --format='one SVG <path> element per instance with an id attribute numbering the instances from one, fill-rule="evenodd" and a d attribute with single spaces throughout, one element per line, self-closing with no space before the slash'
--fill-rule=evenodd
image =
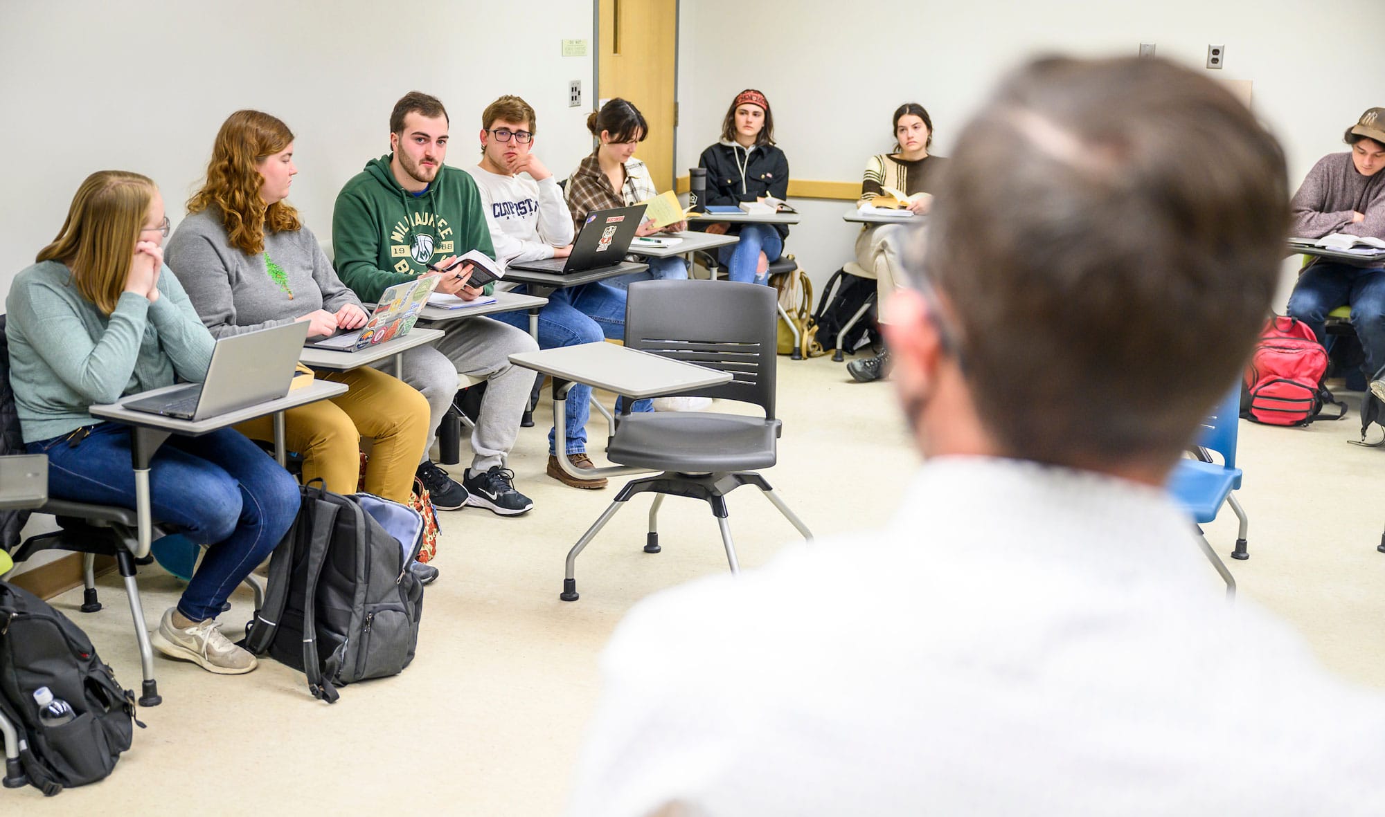
<path id="1" fill-rule="evenodd" d="M 414 195 L 389 170 L 393 154 L 366 163 L 337 194 L 332 252 L 337 274 L 361 300 L 428 273 L 428 264 L 479 249 L 496 258 L 476 183 L 443 165 Z M 493 284 L 486 285 L 489 294 Z"/>

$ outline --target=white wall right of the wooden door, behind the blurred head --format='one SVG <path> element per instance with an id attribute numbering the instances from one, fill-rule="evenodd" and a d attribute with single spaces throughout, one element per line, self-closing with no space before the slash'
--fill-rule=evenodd
<path id="1" fill-rule="evenodd" d="M 866 158 L 893 147 L 904 101 L 932 115 L 933 150 L 956 133 L 1000 75 L 1046 51 L 1158 55 L 1205 71 L 1226 46 L 1222 79 L 1255 83 L 1253 109 L 1283 140 L 1292 184 L 1342 132 L 1385 105 L 1381 0 L 695 0 L 680 7 L 680 174 L 717 138 L 737 91 L 758 87 L 795 179 L 859 181 Z M 729 30 L 745 32 L 729 37 Z M 819 282 L 850 259 L 846 202 L 795 202 L 788 249 Z"/>

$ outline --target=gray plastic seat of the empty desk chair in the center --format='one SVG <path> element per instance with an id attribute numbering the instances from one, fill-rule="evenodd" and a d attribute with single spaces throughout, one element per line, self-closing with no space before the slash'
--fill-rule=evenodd
<path id="1" fill-rule="evenodd" d="M 702 411 L 645 411 L 620 418 L 607 458 L 659 471 L 745 471 L 774 464 L 778 420 Z"/>

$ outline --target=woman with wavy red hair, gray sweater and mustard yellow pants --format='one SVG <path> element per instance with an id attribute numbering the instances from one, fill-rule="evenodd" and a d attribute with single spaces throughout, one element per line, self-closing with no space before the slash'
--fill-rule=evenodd
<path id="1" fill-rule="evenodd" d="M 294 134 L 281 120 L 237 111 L 222 125 L 206 183 L 168 246 L 169 267 L 217 338 L 291 321 L 307 321 L 309 335 L 321 336 L 367 320 L 360 299 L 284 201 L 294 173 Z M 428 447 L 428 402 L 377 368 L 317 377 L 350 390 L 285 413 L 288 447 L 303 454 L 303 482 L 321 478 L 327 490 L 356 493 L 366 435 L 375 440 L 366 490 L 407 503 Z M 273 439 L 270 424 L 266 417 L 238 428 Z"/>

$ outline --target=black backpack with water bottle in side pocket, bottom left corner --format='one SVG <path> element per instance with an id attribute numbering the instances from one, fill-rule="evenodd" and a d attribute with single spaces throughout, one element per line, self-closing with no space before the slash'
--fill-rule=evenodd
<path id="1" fill-rule="evenodd" d="M 33 692 L 47 687 L 76 716 L 44 726 Z M 0 715 L 19 737 L 4 785 L 53 796 L 111 774 L 134 731 L 134 692 L 116 683 L 80 627 L 42 598 L 0 582 Z"/>

